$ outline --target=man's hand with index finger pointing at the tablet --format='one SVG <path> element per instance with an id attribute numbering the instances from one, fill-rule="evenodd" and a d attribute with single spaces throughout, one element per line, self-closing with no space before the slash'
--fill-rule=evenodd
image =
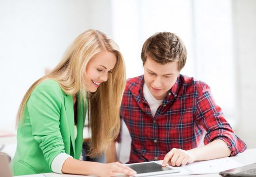
<path id="1" fill-rule="evenodd" d="M 193 161 L 195 161 L 195 157 L 190 151 L 173 148 L 164 156 L 162 166 L 166 166 L 166 164 L 181 166 Z"/>

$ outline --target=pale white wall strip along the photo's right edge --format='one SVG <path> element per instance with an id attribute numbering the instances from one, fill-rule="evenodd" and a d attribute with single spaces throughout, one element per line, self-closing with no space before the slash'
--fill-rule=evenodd
<path id="1" fill-rule="evenodd" d="M 232 1 L 236 96 L 239 127 L 237 134 L 248 148 L 256 147 L 256 1 Z"/>

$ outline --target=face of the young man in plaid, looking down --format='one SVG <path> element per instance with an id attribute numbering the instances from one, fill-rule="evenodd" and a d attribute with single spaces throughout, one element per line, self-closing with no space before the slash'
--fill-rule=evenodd
<path id="1" fill-rule="evenodd" d="M 147 57 L 144 64 L 144 79 L 148 89 L 157 100 L 163 100 L 175 84 L 180 71 L 178 62 L 159 64 Z"/>

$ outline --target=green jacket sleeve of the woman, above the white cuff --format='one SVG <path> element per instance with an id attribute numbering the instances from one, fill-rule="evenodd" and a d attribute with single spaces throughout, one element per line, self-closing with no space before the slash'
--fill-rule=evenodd
<path id="1" fill-rule="evenodd" d="M 53 159 L 65 153 L 60 131 L 61 89 L 57 82 L 39 84 L 27 102 L 32 136 L 51 168 Z"/>

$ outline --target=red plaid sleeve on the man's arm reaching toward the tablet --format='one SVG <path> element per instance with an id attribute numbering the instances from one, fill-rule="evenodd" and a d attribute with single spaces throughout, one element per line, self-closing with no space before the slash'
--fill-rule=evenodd
<path id="1" fill-rule="evenodd" d="M 199 126 L 206 130 L 204 144 L 221 139 L 231 150 L 231 156 L 243 152 L 246 149 L 245 143 L 235 135 L 221 108 L 216 105 L 209 86 L 202 84 L 197 93 L 196 119 Z"/>

